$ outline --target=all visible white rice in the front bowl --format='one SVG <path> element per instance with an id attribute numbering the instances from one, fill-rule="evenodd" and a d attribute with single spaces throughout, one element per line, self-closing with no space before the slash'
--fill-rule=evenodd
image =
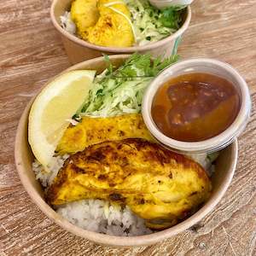
<path id="1" fill-rule="evenodd" d="M 44 188 L 53 182 L 68 156 L 65 154 L 53 157 L 47 171 L 38 160 L 32 163 L 32 170 Z M 189 157 L 201 164 L 208 175 L 212 176 L 214 166 L 207 154 Z M 119 207 L 108 201 L 94 199 L 73 201 L 57 207 L 56 212 L 84 230 L 111 236 L 142 236 L 153 232 L 146 228 L 143 218 L 137 217 L 129 207 Z"/>

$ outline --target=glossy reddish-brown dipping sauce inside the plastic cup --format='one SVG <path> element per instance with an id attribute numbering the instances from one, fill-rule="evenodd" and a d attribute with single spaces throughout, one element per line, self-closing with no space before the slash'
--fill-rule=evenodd
<path id="1" fill-rule="evenodd" d="M 209 73 L 189 73 L 170 79 L 154 96 L 154 123 L 167 137 L 200 142 L 226 130 L 241 106 L 230 81 Z"/>

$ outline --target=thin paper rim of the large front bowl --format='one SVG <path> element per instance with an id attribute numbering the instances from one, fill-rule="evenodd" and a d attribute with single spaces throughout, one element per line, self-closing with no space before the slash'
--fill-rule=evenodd
<path id="1" fill-rule="evenodd" d="M 111 55 L 110 60 L 119 60 L 127 58 L 129 55 Z M 83 67 L 84 63 L 90 64 L 90 62 L 96 62 L 96 61 L 102 61 L 103 57 L 98 57 L 89 61 L 83 61 L 79 64 L 74 65 L 73 67 L 69 67 L 66 70 L 64 70 L 62 73 L 66 73 L 73 69 L 78 69 L 79 67 Z M 59 75 L 59 74 L 58 74 Z M 55 78 L 53 78 L 55 79 Z M 41 90 L 44 89 L 44 87 L 49 84 L 49 82 L 52 79 L 49 79 L 44 86 L 42 86 Z M 41 91 L 39 90 L 36 94 L 38 96 L 38 93 Z M 39 195 L 38 191 L 32 186 L 32 183 L 30 183 L 29 178 L 26 176 L 26 170 L 24 168 L 23 164 L 23 158 L 22 158 L 22 136 L 24 132 L 24 127 L 27 129 L 27 121 L 28 121 L 28 114 L 30 111 L 30 108 L 32 106 L 32 102 L 36 98 L 36 96 L 33 96 L 31 101 L 26 105 L 25 110 L 23 111 L 19 125 L 16 131 L 15 136 L 15 166 L 17 169 L 17 172 L 20 176 L 20 181 L 23 184 L 23 187 L 26 189 L 27 194 L 30 196 L 32 201 L 39 207 L 39 209 L 44 212 L 44 214 L 53 220 L 55 224 L 58 224 L 63 228 L 64 230 L 67 230 L 71 232 L 74 235 L 86 238 L 90 241 L 94 241 L 97 244 L 102 245 L 110 245 L 114 247 L 138 247 L 138 246 L 146 246 L 150 244 L 154 244 L 156 242 L 162 241 L 166 238 L 169 238 L 171 236 L 177 235 L 178 233 L 189 229 L 189 227 L 193 226 L 194 224 L 198 223 L 201 218 L 204 218 L 207 213 L 212 211 L 212 208 L 215 207 L 218 202 L 223 197 L 225 191 L 228 189 L 231 179 L 234 175 L 235 169 L 236 169 L 236 162 L 237 162 L 237 155 L 238 155 L 238 145 L 237 140 L 235 140 L 234 143 L 231 145 L 231 164 L 229 168 L 229 172 L 227 172 L 227 175 L 224 177 L 224 181 L 222 182 L 223 185 L 218 189 L 218 193 L 215 193 L 208 201 L 207 203 L 201 207 L 200 210 L 195 212 L 191 217 L 183 220 L 183 222 L 176 224 L 175 226 L 166 229 L 161 230 L 153 234 L 144 235 L 144 236 L 109 236 L 104 235 L 96 232 L 92 232 L 89 230 L 83 230 L 82 228 L 79 228 L 78 226 L 75 226 L 67 221 L 67 219 L 62 218 L 60 214 L 55 212 L 49 205 L 43 200 L 41 195 Z M 28 141 L 26 140 L 26 143 Z"/>

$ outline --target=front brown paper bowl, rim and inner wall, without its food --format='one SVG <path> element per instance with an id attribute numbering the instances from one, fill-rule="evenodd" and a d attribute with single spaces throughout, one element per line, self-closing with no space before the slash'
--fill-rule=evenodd
<path id="1" fill-rule="evenodd" d="M 118 67 L 128 55 L 112 55 L 110 60 Z M 96 69 L 97 72 L 102 72 L 105 69 L 106 64 L 103 61 L 103 57 L 96 58 L 90 61 L 84 61 L 73 67 L 68 68 L 65 72 L 77 69 Z M 180 224 L 173 226 L 170 229 L 159 231 L 157 233 L 147 236 L 132 236 L 132 237 L 120 237 L 120 236 L 107 236 L 87 230 L 82 230 L 73 224 L 70 224 L 65 218 L 62 218 L 57 214 L 49 205 L 44 201 L 44 193 L 40 183 L 35 178 L 32 172 L 32 161 L 34 159 L 31 148 L 27 141 L 27 120 L 31 102 L 24 110 L 20 123 L 18 126 L 16 139 L 15 139 L 15 164 L 17 171 L 20 175 L 21 183 L 30 195 L 32 200 L 38 205 L 38 207 L 56 224 L 59 224 L 63 229 L 70 231 L 71 233 L 84 237 L 90 241 L 94 241 L 103 245 L 119 246 L 119 247 L 131 247 L 131 246 L 144 246 L 162 241 L 171 236 L 177 235 L 183 230 L 189 229 L 192 225 L 196 224 L 204 218 L 208 212 L 211 212 L 218 201 L 224 195 L 224 192 L 228 188 L 233 174 L 236 169 L 237 160 L 237 141 L 230 144 L 229 147 L 224 148 L 217 160 L 216 171 L 212 177 L 213 191 L 211 198 L 207 203 L 201 207 L 198 212 L 195 212 L 190 218 L 183 220 Z"/>

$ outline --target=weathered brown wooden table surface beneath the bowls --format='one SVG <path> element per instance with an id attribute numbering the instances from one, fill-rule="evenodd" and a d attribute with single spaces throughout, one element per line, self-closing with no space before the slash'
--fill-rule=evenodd
<path id="1" fill-rule="evenodd" d="M 30 200 L 15 170 L 14 142 L 26 103 L 70 66 L 49 19 L 50 1 L 0 1 L 0 255 L 256 255 L 256 113 L 239 138 L 235 177 L 193 229 L 151 247 L 110 248 L 73 236 Z M 195 0 L 178 53 L 227 61 L 256 103 L 256 0 Z"/>

